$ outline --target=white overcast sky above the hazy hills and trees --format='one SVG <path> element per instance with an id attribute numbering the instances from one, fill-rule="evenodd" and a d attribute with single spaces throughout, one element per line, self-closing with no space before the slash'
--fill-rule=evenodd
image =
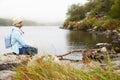
<path id="1" fill-rule="evenodd" d="M 87 0 L 0 0 L 0 18 L 21 17 L 37 22 L 61 22 L 72 4 Z"/>

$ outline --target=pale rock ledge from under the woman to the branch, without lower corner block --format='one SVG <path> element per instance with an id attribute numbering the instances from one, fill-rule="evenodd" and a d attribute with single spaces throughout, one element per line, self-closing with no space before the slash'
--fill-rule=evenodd
<path id="1" fill-rule="evenodd" d="M 50 54 L 35 55 L 30 57 L 29 55 L 1 55 L 0 56 L 0 70 L 11 70 L 20 64 L 26 64 L 28 61 L 32 62 L 41 58 L 43 61 L 51 60 L 56 63 L 60 63 L 59 59 Z"/>

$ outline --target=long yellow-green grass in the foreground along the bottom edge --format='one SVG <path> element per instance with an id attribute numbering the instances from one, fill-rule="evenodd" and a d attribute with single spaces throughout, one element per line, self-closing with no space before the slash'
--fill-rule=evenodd
<path id="1" fill-rule="evenodd" d="M 110 64 L 107 70 L 97 65 L 76 69 L 38 58 L 16 68 L 12 80 L 120 80 L 120 73 L 115 73 Z"/>

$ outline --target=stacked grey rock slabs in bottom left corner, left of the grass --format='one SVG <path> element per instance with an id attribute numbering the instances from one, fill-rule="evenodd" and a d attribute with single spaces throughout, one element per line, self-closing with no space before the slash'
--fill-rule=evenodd
<path id="1" fill-rule="evenodd" d="M 11 76 L 15 74 L 13 68 L 28 61 L 28 55 L 0 55 L 0 80 L 11 80 Z"/>

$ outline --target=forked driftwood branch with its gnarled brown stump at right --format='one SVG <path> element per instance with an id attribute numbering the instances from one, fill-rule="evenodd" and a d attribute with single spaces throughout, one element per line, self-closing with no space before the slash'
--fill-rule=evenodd
<path id="1" fill-rule="evenodd" d="M 111 50 L 108 51 L 105 47 L 100 48 L 100 49 L 76 49 L 76 50 L 72 50 L 67 53 L 64 53 L 62 55 L 56 55 L 56 56 L 59 58 L 59 60 L 69 60 L 69 61 L 79 62 L 81 60 L 64 58 L 65 56 L 74 54 L 76 52 L 78 52 L 78 53 L 81 52 L 82 62 L 84 64 L 90 63 L 91 60 L 97 61 L 99 63 L 103 63 L 103 61 L 107 59 L 108 54 L 109 54 L 110 58 L 120 57 L 119 53 L 114 53 Z"/>

